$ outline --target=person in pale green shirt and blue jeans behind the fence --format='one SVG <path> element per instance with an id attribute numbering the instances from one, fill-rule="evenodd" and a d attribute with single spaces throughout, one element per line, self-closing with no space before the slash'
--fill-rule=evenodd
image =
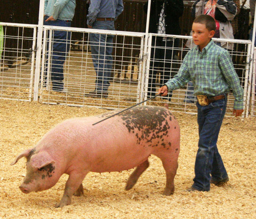
<path id="1" fill-rule="evenodd" d="M 75 0 L 45 0 L 43 25 L 71 27 L 75 6 Z M 70 49 L 70 37 L 69 31 L 54 31 L 50 39 L 52 40 L 50 73 L 53 91 L 61 92 L 64 89 L 63 65 Z M 46 60 L 48 60 L 48 54 Z M 47 66 L 48 63 L 46 63 L 46 72 Z"/>

